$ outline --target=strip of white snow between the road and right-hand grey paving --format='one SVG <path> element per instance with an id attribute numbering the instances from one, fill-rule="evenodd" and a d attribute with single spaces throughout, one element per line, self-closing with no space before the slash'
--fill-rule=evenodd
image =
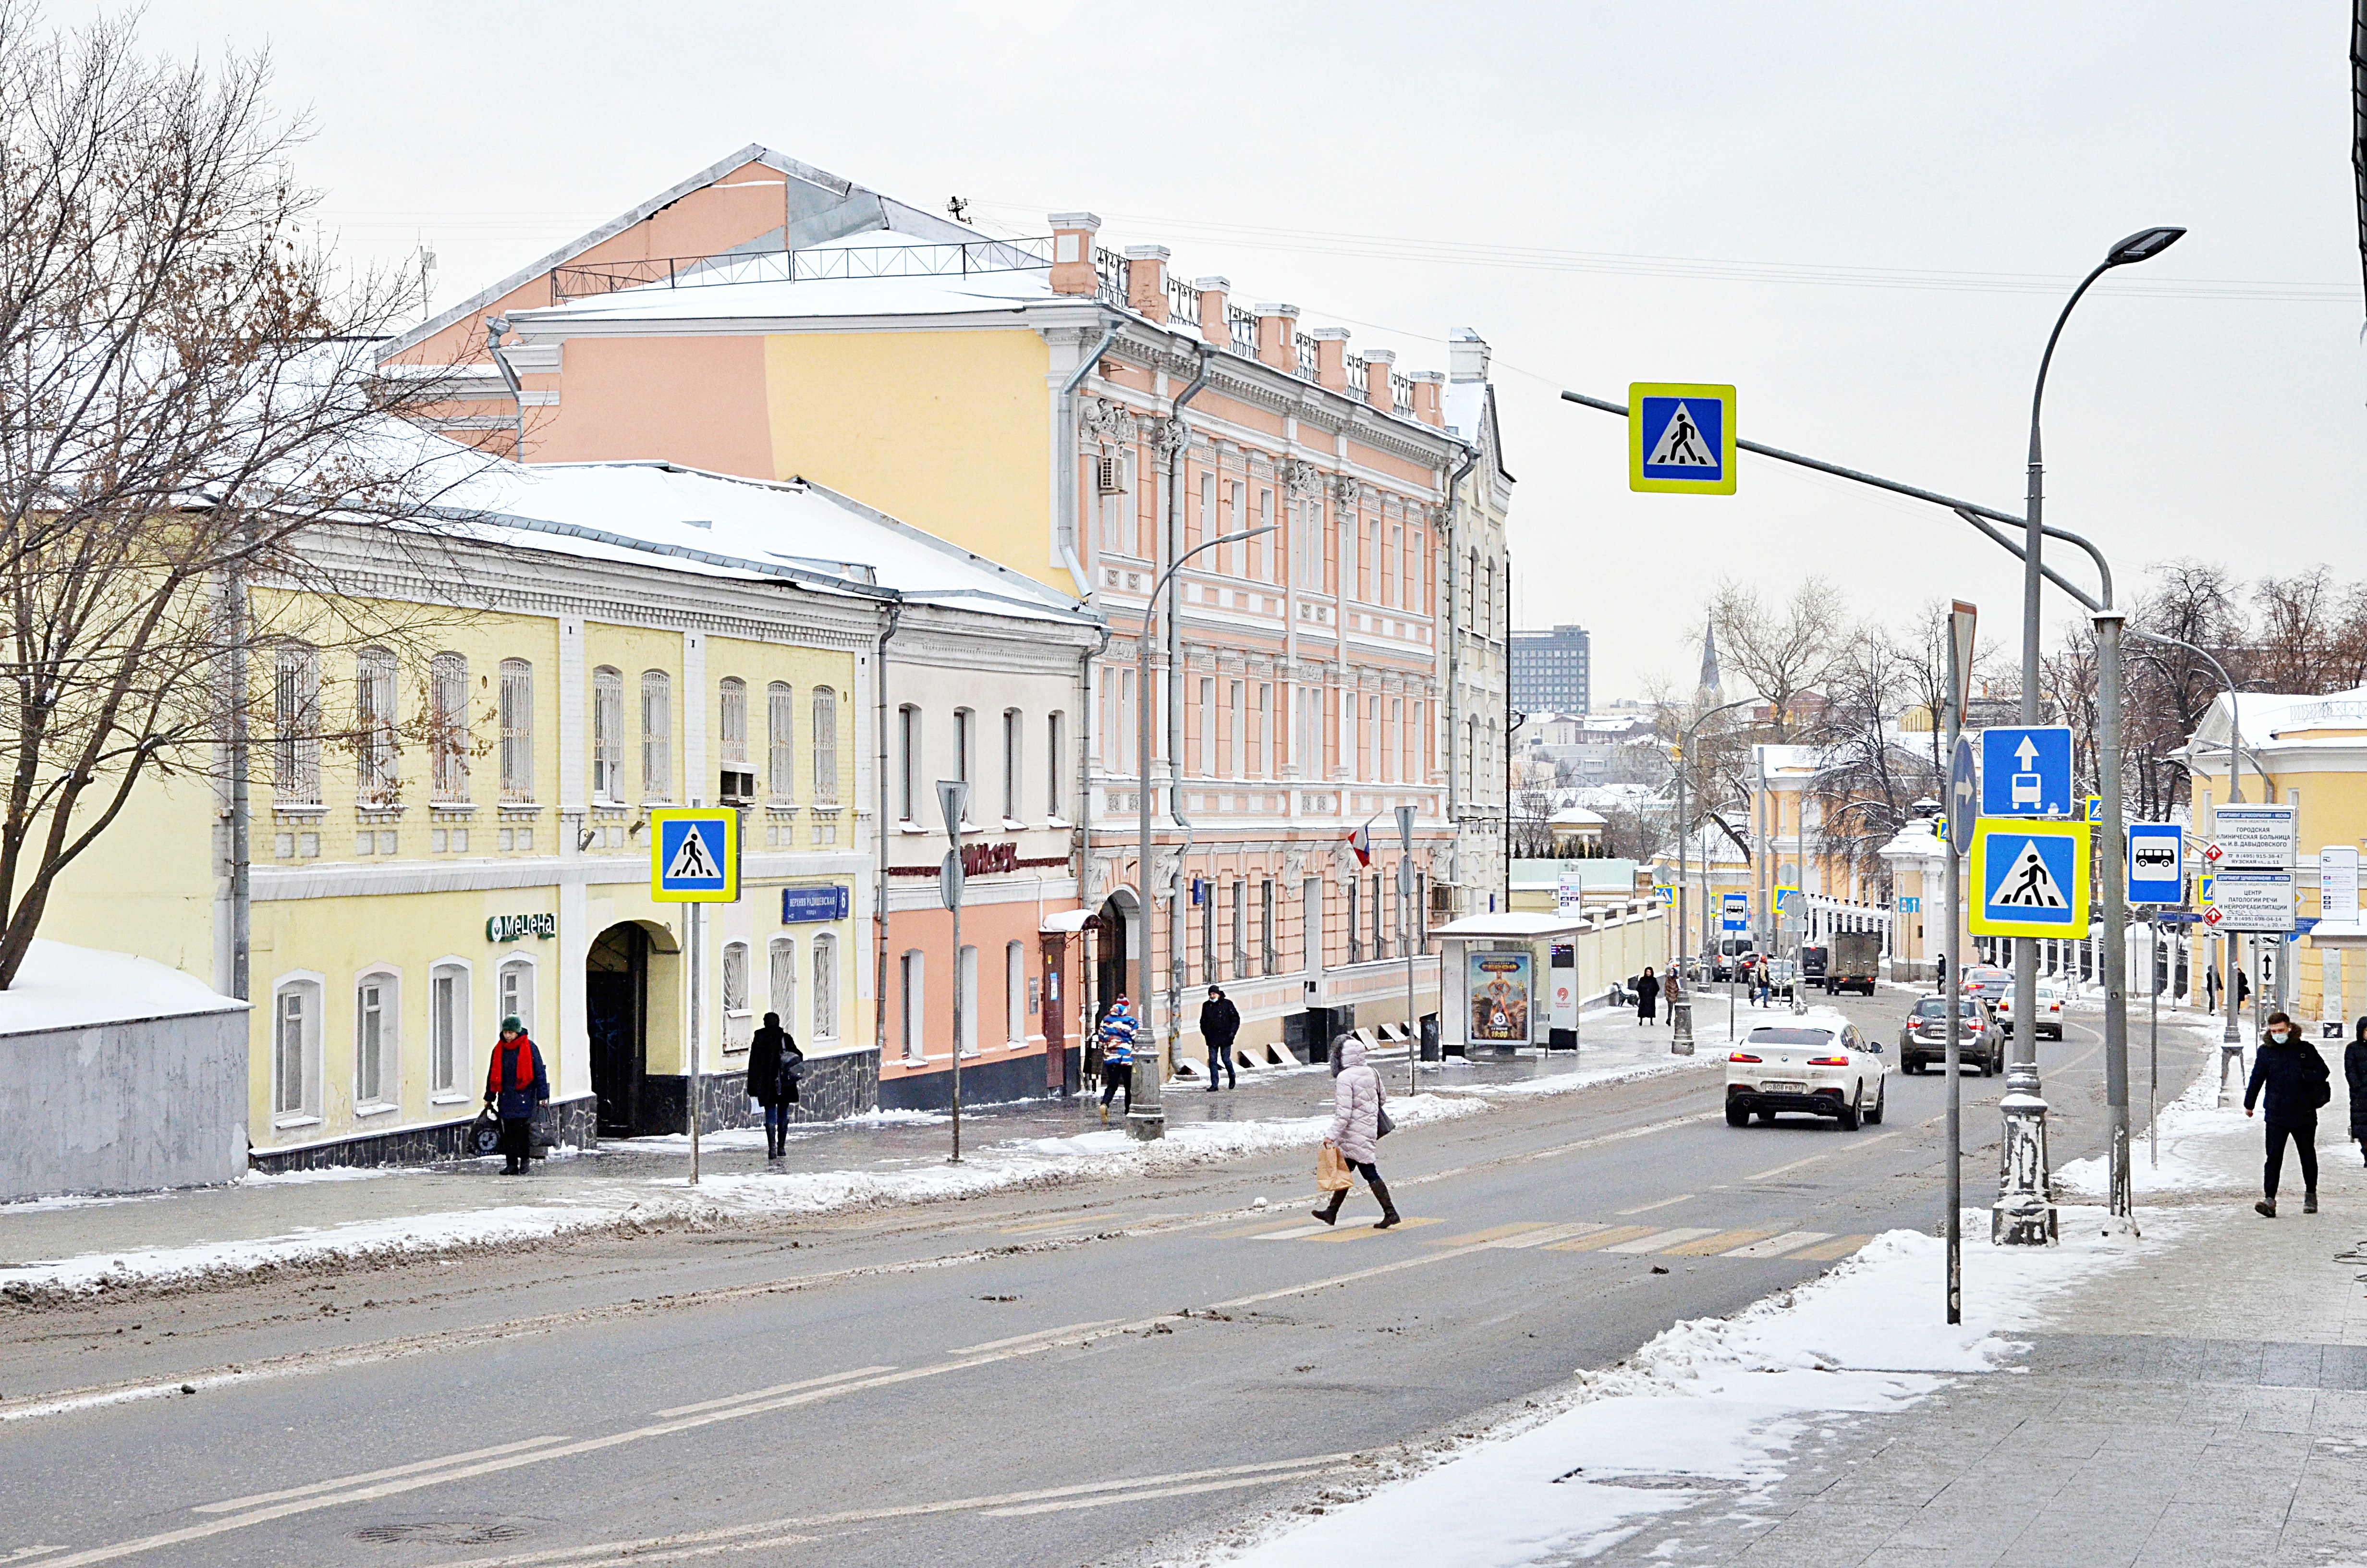
<path id="1" fill-rule="evenodd" d="M 1226 1561 L 1515 1568 L 1593 1556 L 1650 1516 L 1695 1504 L 1702 1492 L 1685 1480 L 1775 1480 L 1811 1419 L 1894 1412 L 1948 1374 L 1998 1367 L 2045 1298 L 2118 1267 L 2135 1246 L 1967 1246 L 1965 1324 L 1950 1329 L 1943 1244 L 1889 1232 L 1808 1286 L 1728 1319 L 1678 1322 L 1619 1367 L 1579 1374 L 1557 1409 Z"/>

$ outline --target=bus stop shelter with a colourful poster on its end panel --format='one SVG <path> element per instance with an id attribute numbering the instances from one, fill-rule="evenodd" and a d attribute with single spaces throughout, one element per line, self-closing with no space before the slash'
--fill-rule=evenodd
<path id="1" fill-rule="evenodd" d="M 1576 914 L 1472 914 L 1439 943 L 1439 1045 L 1449 1054 L 1579 1045 Z"/>

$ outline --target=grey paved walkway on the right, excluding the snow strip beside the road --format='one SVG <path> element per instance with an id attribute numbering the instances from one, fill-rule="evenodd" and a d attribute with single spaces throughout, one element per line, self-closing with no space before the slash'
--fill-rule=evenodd
<path id="1" fill-rule="evenodd" d="M 2341 1142 L 2341 1045 L 2320 1054 L 2324 1213 L 2301 1213 L 2289 1158 L 2282 1217 L 2253 1215 L 2260 1123 L 2194 1094 L 2163 1116 L 2159 1172 L 2137 1144 L 2137 1258 L 2047 1298 L 2017 1364 L 1818 1419 L 1780 1480 L 1711 1492 L 1598 1561 L 2367 1563 L 2367 1170 Z M 2066 1229 L 2097 1220 L 2064 1210 Z"/>

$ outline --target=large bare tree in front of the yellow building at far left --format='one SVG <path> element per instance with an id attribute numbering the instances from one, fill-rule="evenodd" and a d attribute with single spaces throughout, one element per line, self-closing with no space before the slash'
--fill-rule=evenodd
<path id="1" fill-rule="evenodd" d="M 327 587 L 308 531 L 419 538 L 391 523 L 436 457 L 391 431 L 438 388 L 372 365 L 417 279 L 303 242 L 301 126 L 263 57 L 208 73 L 142 57 L 125 19 L 45 33 L 0 0 L 0 59 L 5 988 L 142 779 L 222 777 L 275 613 L 315 640 L 341 621 L 303 592 Z M 256 613 L 258 583 L 298 592 Z"/>

